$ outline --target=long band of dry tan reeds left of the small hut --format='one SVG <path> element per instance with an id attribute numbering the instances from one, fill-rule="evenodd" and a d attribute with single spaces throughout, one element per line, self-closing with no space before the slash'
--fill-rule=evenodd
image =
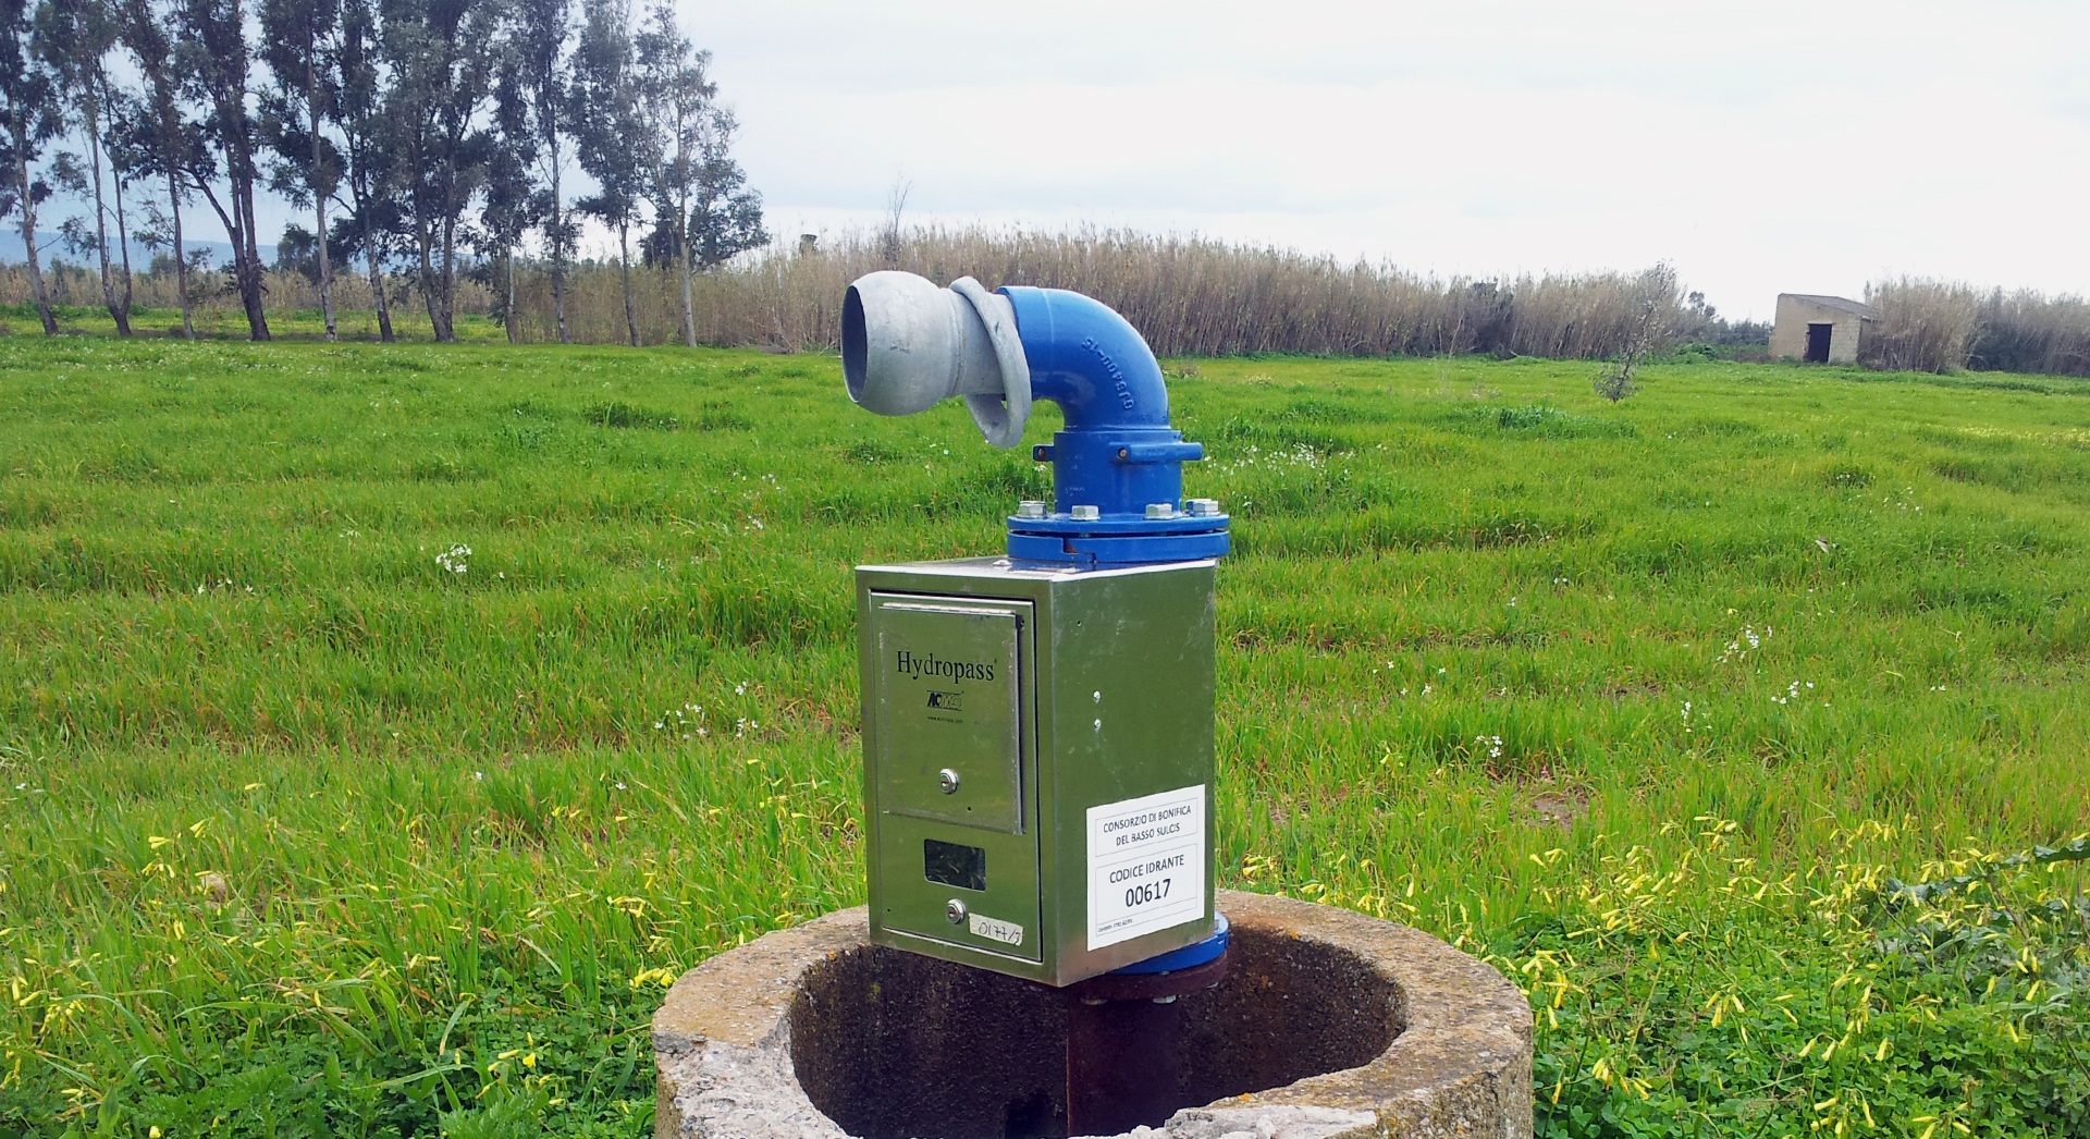
<path id="1" fill-rule="evenodd" d="M 974 276 L 989 286 L 1076 288 L 1122 311 L 1162 355 L 1323 353 L 1436 355 L 1499 353 L 1605 357 L 1626 349 L 1636 313 L 1636 274 L 1434 278 L 1396 265 L 1344 263 L 1287 249 L 1225 245 L 1195 236 L 1112 230 L 1005 232 L 913 230 L 895 249 L 878 234 L 844 234 L 826 247 L 777 245 L 696 280 L 698 341 L 782 351 L 828 349 L 840 341 L 842 290 L 857 276 L 899 268 L 938 282 Z M 497 280 L 474 280 L 472 309 L 493 311 Z M 52 272 L 59 303 L 96 305 L 100 286 L 79 268 Z M 236 309 L 224 274 L 192 288 L 205 324 Z M 0 303 L 27 297 L 21 270 L 0 272 Z M 270 274 L 272 311 L 318 307 L 318 290 L 297 274 Z M 136 303 L 171 309 L 171 280 L 140 276 Z M 416 301 L 395 282 L 393 309 Z M 336 307 L 370 307 L 364 276 L 336 278 Z M 633 274 L 640 341 L 675 343 L 679 297 L 671 272 Z M 516 336 L 556 336 L 550 272 L 516 270 Z M 614 263 L 581 263 L 568 274 L 566 316 L 581 343 L 621 343 L 623 286 Z M 349 322 L 359 324 L 359 322 Z"/>

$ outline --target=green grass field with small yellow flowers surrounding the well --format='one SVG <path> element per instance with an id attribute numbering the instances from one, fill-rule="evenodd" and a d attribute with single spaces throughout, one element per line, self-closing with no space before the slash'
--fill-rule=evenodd
<path id="1" fill-rule="evenodd" d="M 1490 955 L 1542 1135 L 2090 1135 L 2090 382 L 1590 372 L 1170 368 L 1221 882 Z M 0 339 L 0 1133 L 650 1133 L 861 901 L 851 566 L 1045 493 L 826 357 Z"/>

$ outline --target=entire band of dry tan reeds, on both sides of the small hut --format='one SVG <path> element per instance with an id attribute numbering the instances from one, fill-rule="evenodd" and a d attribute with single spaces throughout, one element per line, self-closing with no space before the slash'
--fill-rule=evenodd
<path id="1" fill-rule="evenodd" d="M 842 234 L 826 245 L 780 242 L 696 280 L 696 334 L 706 345 L 832 351 L 840 341 L 842 290 L 861 274 L 911 270 L 949 282 L 974 276 L 989 286 L 1076 288 L 1122 311 L 1162 355 L 1440 355 L 1496 353 L 1542 357 L 1618 357 L 1641 318 L 1643 274 L 1438 278 L 1388 263 L 1338 261 L 1290 249 L 1227 245 L 1198 236 L 1122 230 L 911 230 L 892 245 L 876 232 Z M 372 297 L 359 265 L 334 278 L 343 332 L 374 334 Z M 100 305 L 96 274 L 79 265 L 46 270 L 61 305 Z M 228 274 L 192 274 L 199 326 L 236 334 L 238 313 Z M 502 265 L 481 265 L 460 282 L 460 311 L 500 318 Z M 0 268 L 0 303 L 29 295 L 21 265 Z M 140 309 L 176 309 L 171 274 L 138 274 Z M 426 313 L 412 278 L 387 282 L 395 322 L 424 334 Z M 1971 286 L 1925 278 L 1875 282 L 1879 309 L 1871 364 L 1910 370 L 2006 368 L 2090 374 L 2090 303 L 2038 293 L 1979 295 Z M 320 303 L 301 274 L 268 274 L 268 307 L 305 311 Z M 679 341 L 679 297 L 667 270 L 633 272 L 640 341 Z M 1693 334 L 1691 313 L 1674 311 L 1653 351 Z M 614 261 L 583 261 L 568 272 L 566 316 L 581 343 L 623 343 L 623 286 Z M 516 268 L 514 328 L 520 341 L 556 339 L 550 270 Z M 159 313 L 150 326 L 161 324 Z M 1697 322 L 1703 324 L 1703 322 Z M 1703 334 L 1697 328 L 1695 334 Z"/>

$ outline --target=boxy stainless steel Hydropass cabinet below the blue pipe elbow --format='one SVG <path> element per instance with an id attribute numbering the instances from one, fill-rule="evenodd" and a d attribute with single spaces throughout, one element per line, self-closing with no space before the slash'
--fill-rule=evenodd
<path id="1" fill-rule="evenodd" d="M 1072 984 L 1212 934 L 1212 568 L 857 571 L 874 940 Z"/>

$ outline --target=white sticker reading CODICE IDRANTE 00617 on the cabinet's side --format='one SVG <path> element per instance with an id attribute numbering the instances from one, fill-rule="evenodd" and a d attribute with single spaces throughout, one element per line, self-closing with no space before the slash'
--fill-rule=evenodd
<path id="1" fill-rule="evenodd" d="M 1089 807 L 1089 949 L 1204 917 L 1204 784 Z"/>

